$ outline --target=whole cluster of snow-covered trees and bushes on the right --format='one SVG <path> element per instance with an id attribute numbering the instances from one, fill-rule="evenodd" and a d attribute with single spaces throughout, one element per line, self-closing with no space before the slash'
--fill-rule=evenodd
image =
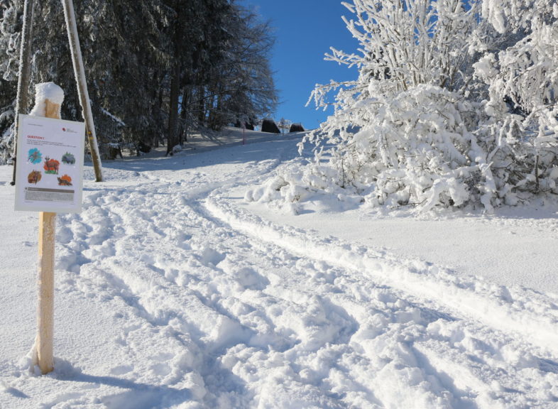
<path id="1" fill-rule="evenodd" d="M 312 162 L 248 199 L 270 200 L 278 184 L 277 200 L 339 195 L 336 185 L 372 206 L 490 211 L 558 193 L 556 0 L 344 5 L 359 54 L 327 59 L 356 65 L 359 78 L 314 90 L 335 112 L 300 144 Z"/>

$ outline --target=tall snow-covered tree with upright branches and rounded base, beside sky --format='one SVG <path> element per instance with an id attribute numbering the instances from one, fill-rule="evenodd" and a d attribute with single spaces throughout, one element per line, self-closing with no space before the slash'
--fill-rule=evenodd
<path id="1" fill-rule="evenodd" d="M 317 145 L 312 179 L 352 188 L 372 205 L 462 205 L 471 187 L 486 202 L 493 180 L 467 126 L 474 107 L 462 97 L 471 80 L 469 38 L 478 4 L 345 5 L 354 13 L 344 21 L 359 40 L 359 53 L 332 50 L 327 58 L 356 65 L 359 78 L 314 91 L 316 102 L 325 104 L 327 92 L 342 85 L 335 115 L 306 140 Z"/>

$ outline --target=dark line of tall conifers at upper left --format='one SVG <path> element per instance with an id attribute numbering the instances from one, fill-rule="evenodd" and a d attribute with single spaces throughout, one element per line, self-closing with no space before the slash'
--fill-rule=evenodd
<path id="1" fill-rule="evenodd" d="M 234 0 L 84 0 L 78 31 L 101 151 L 109 143 L 168 152 L 200 126 L 255 123 L 274 111 L 268 23 Z M 13 143 L 23 0 L 0 0 L 0 155 Z M 60 1 L 35 1 L 34 84 L 65 90 L 81 120 Z M 33 98 L 31 98 L 31 101 Z"/>

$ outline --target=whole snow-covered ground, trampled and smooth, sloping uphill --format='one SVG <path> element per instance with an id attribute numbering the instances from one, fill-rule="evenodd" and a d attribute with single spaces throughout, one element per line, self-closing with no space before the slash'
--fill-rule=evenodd
<path id="1" fill-rule="evenodd" d="M 243 198 L 300 135 L 246 135 L 86 167 L 48 376 L 38 215 L 0 167 L 0 408 L 558 408 L 556 212 L 285 214 Z"/>

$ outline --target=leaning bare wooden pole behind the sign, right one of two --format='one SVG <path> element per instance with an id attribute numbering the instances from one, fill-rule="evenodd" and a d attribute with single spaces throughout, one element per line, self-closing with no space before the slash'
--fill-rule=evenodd
<path id="1" fill-rule="evenodd" d="M 72 0 L 62 0 L 62 5 L 64 6 L 66 29 L 68 32 L 68 40 L 70 40 L 70 50 L 72 50 L 72 63 L 74 65 L 75 80 L 77 82 L 77 93 L 79 94 L 80 104 L 82 105 L 82 116 L 85 120 L 89 152 L 91 152 L 91 159 L 93 161 L 93 168 L 95 171 L 95 181 L 102 182 L 103 173 L 101 168 L 101 156 L 99 155 L 99 146 L 97 146 L 97 136 L 95 134 L 91 104 L 89 103 L 87 82 L 85 82 L 85 71 L 83 67 L 82 50 L 80 48 L 80 38 L 77 36 L 77 25 L 75 23 L 74 4 Z"/>

